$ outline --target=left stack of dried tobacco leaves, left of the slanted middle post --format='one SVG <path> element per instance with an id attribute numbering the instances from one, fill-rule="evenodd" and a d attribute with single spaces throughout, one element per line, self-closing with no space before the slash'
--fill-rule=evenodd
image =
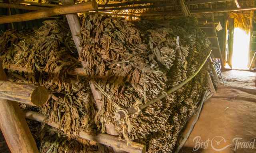
<path id="1" fill-rule="evenodd" d="M 45 86 L 50 92 L 44 106 L 23 108 L 48 116 L 49 122 L 64 129 L 68 139 L 74 132 L 96 129 L 88 80 L 66 75 L 70 69 L 80 67 L 67 22 L 44 21 L 44 26 L 29 32 L 9 30 L 0 40 L 4 67 L 14 64 L 32 72 L 9 71 L 9 80 Z"/>

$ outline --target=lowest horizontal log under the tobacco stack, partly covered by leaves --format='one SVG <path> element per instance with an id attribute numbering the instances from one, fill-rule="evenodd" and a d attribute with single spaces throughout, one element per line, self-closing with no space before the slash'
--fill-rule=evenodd
<path id="1" fill-rule="evenodd" d="M 46 117 L 41 114 L 38 114 L 37 112 L 24 110 L 24 116 L 30 120 L 35 120 L 35 121 L 42 122 L 42 123 L 44 121 L 46 121 Z M 46 122 L 46 124 L 59 129 L 59 126 L 56 123 Z M 61 130 L 63 130 L 63 129 L 61 129 Z M 119 140 L 118 137 L 115 137 L 115 136 L 112 136 L 109 134 L 104 134 L 104 133 L 96 134 L 96 133 L 88 133 L 85 131 L 80 131 L 78 136 L 83 139 L 96 141 L 103 145 L 118 148 L 118 149 L 120 149 L 122 151 L 126 151 L 128 153 L 145 153 L 146 152 L 145 145 L 142 145 L 142 144 L 136 143 L 136 142 L 132 142 L 131 145 L 126 145 L 125 140 L 122 140 L 122 139 Z"/>

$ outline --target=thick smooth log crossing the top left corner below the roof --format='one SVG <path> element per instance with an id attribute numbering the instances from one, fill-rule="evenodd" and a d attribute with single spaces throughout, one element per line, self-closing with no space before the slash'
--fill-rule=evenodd
<path id="1" fill-rule="evenodd" d="M 62 15 L 62 14 L 72 14 L 78 12 L 86 12 L 96 10 L 98 8 L 95 1 L 90 1 L 86 3 L 74 4 L 72 6 L 61 6 L 55 8 L 48 8 L 46 10 L 40 10 L 36 12 L 28 12 L 24 14 L 16 14 L 12 16 L 2 16 L 0 17 L 0 24 L 12 23 L 12 22 L 22 22 L 35 20 L 50 16 Z"/>

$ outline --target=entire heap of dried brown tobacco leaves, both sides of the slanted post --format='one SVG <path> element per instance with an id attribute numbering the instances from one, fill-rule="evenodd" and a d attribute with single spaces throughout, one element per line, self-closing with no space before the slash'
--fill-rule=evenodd
<path id="1" fill-rule="evenodd" d="M 98 111 L 89 80 L 66 75 L 70 69 L 80 67 L 66 22 L 47 21 L 30 33 L 6 31 L 0 40 L 5 67 L 16 64 L 33 72 L 9 71 L 9 80 L 39 84 L 51 93 L 42 107 L 22 107 L 48 116 L 48 120 L 64 129 L 68 139 L 75 138 L 72 134 L 80 130 L 98 129 L 105 133 L 106 124 L 112 123 L 128 144 L 130 141 L 146 144 L 148 153 L 171 153 L 179 132 L 208 88 L 207 62 L 179 90 L 129 118 L 114 120 L 118 110 L 138 107 L 166 94 L 195 73 L 210 52 L 209 41 L 195 18 L 170 21 L 170 26 L 163 27 L 147 21 L 132 23 L 122 18 L 87 14 L 82 22 L 83 49 L 79 59 L 92 78 L 108 76 L 93 80 L 103 97 L 104 107 Z M 62 152 L 66 144 L 57 142 L 63 139 L 52 138 L 43 138 L 41 144 L 46 149 L 42 151 L 55 148 Z"/>

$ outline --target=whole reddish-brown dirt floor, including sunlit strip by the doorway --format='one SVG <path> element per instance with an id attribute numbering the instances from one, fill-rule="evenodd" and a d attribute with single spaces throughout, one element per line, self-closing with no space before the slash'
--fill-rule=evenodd
<path id="1" fill-rule="evenodd" d="M 180 153 L 256 153 L 256 90 L 252 90 L 255 73 L 223 74 L 225 85 L 236 87 L 220 86 L 204 103 Z"/>

